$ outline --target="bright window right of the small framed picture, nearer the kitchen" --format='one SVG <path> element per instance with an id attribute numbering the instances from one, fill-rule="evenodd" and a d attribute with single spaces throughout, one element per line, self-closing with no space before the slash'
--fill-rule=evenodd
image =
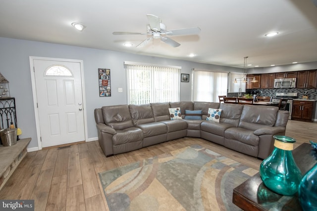
<path id="1" fill-rule="evenodd" d="M 192 100 L 219 102 L 218 95 L 227 95 L 228 73 L 192 71 Z"/>

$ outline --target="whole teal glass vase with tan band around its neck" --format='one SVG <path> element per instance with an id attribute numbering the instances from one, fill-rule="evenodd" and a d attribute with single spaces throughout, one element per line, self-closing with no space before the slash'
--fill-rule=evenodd
<path id="1" fill-rule="evenodd" d="M 274 149 L 260 165 L 260 176 L 264 185 L 271 191 L 292 196 L 298 191 L 302 179 L 292 150 L 295 139 L 283 135 L 274 135 Z"/>

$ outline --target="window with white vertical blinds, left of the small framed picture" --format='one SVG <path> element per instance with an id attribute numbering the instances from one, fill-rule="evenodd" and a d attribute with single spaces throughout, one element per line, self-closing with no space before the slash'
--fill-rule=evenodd
<path id="1" fill-rule="evenodd" d="M 134 62 L 124 62 L 124 64 L 129 104 L 179 101 L 181 67 Z"/>

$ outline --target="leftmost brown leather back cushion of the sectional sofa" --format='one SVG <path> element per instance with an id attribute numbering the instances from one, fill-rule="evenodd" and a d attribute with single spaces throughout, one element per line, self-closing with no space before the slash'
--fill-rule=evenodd
<path id="1" fill-rule="evenodd" d="M 113 129 L 133 127 L 128 105 L 103 106 L 104 122 Z"/>

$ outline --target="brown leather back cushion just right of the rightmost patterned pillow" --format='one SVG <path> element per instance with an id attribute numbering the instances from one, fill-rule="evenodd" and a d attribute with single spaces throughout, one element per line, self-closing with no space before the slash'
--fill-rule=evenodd
<path id="1" fill-rule="evenodd" d="M 238 127 L 242 109 L 242 104 L 220 103 L 221 109 L 220 123 L 226 123 Z"/>

